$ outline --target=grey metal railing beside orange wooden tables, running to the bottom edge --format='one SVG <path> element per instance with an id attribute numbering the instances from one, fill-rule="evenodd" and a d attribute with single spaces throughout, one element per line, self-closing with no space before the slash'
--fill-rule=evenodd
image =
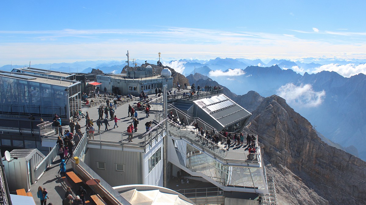
<path id="1" fill-rule="evenodd" d="M 104 194 L 108 195 L 116 204 L 131 205 L 125 198 L 123 198 L 111 185 L 103 180 L 97 173 L 95 173 L 89 166 L 87 166 L 82 160 L 79 160 L 79 164 L 75 164 L 74 160 L 71 160 L 72 168 L 87 179 L 99 179 L 98 187 L 100 187 Z M 112 202 L 113 203 L 113 202 Z M 115 204 L 113 203 L 113 204 Z"/>

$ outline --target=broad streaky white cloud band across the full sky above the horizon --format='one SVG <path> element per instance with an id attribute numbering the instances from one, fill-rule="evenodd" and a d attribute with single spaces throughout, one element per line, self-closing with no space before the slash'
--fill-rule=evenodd
<path id="1" fill-rule="evenodd" d="M 315 34 L 313 31 L 304 33 Z M 13 36 L 19 38 L 19 42 L 14 43 L 17 39 Z M 1 37 L 12 40 L 0 42 L 0 65 L 10 64 L 11 61 L 22 65 L 29 59 L 39 63 L 72 62 L 75 57 L 78 60 L 123 59 L 124 52 L 131 51 L 131 48 L 134 58 L 156 59 L 157 47 L 164 52 L 165 61 L 192 57 L 366 58 L 362 35 L 358 38 L 340 36 L 348 40 L 336 42 L 333 36 L 332 40 L 326 41 L 300 39 L 291 34 L 158 27 L 156 30 L 0 31 Z M 125 50 L 122 53 L 121 48 Z"/>

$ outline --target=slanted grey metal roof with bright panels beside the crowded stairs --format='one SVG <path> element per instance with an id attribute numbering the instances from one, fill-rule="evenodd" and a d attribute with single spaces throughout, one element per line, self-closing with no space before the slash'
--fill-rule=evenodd
<path id="1" fill-rule="evenodd" d="M 219 122 L 223 127 L 240 121 L 251 115 L 246 109 L 236 104 L 224 94 L 202 98 L 193 101 L 199 108 L 205 111 L 213 120 Z"/>

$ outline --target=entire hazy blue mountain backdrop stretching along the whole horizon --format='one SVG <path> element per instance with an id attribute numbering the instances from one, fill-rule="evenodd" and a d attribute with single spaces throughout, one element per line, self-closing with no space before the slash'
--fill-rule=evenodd
<path id="1" fill-rule="evenodd" d="M 136 60 L 137 66 L 144 62 L 145 60 Z M 156 60 L 147 60 L 147 62 L 154 64 Z M 194 74 L 194 70 L 196 73 L 208 76 L 212 81 L 231 90 L 234 95 L 240 96 L 250 90 L 255 90 L 265 97 L 273 94 L 280 95 L 296 112 L 306 117 L 311 124 L 317 125 L 316 129 L 326 138 L 345 147 L 348 151 L 354 150 L 352 153 L 357 153 L 352 147 L 355 146 L 359 157 L 366 159 L 365 75 L 358 74 L 346 78 L 333 71 L 309 74 L 322 65 L 330 63 L 361 65 L 366 63 L 365 59 L 304 58 L 292 61 L 285 59 L 264 61 L 215 58 L 180 59 L 177 62 L 168 63 L 172 69 L 176 69 L 172 66 L 175 64 L 182 66 L 176 70 L 180 70 L 185 76 Z M 31 67 L 83 73 L 100 69 L 104 73 L 120 73 L 126 65 L 125 60 L 122 60 L 36 64 Z M 23 66 L 29 65 L 5 65 L 0 70 Z M 211 75 L 213 73 L 215 75 Z"/>

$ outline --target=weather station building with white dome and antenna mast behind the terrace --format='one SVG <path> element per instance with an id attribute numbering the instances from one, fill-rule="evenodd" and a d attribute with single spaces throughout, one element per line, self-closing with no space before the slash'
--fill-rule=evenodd
<path id="1" fill-rule="evenodd" d="M 126 54 L 128 57 L 128 53 Z M 161 74 L 156 74 L 150 65 L 146 67 L 130 67 L 135 64 L 134 59 L 128 58 L 126 74 L 104 74 L 97 75 L 97 82 L 101 93 L 104 88 L 107 92 L 119 95 L 132 94 L 138 96 L 142 91 L 147 94 L 155 93 L 155 89 L 163 89 L 163 85 L 168 85 L 167 89 L 173 88 L 172 72 L 169 69 L 163 69 Z"/>

